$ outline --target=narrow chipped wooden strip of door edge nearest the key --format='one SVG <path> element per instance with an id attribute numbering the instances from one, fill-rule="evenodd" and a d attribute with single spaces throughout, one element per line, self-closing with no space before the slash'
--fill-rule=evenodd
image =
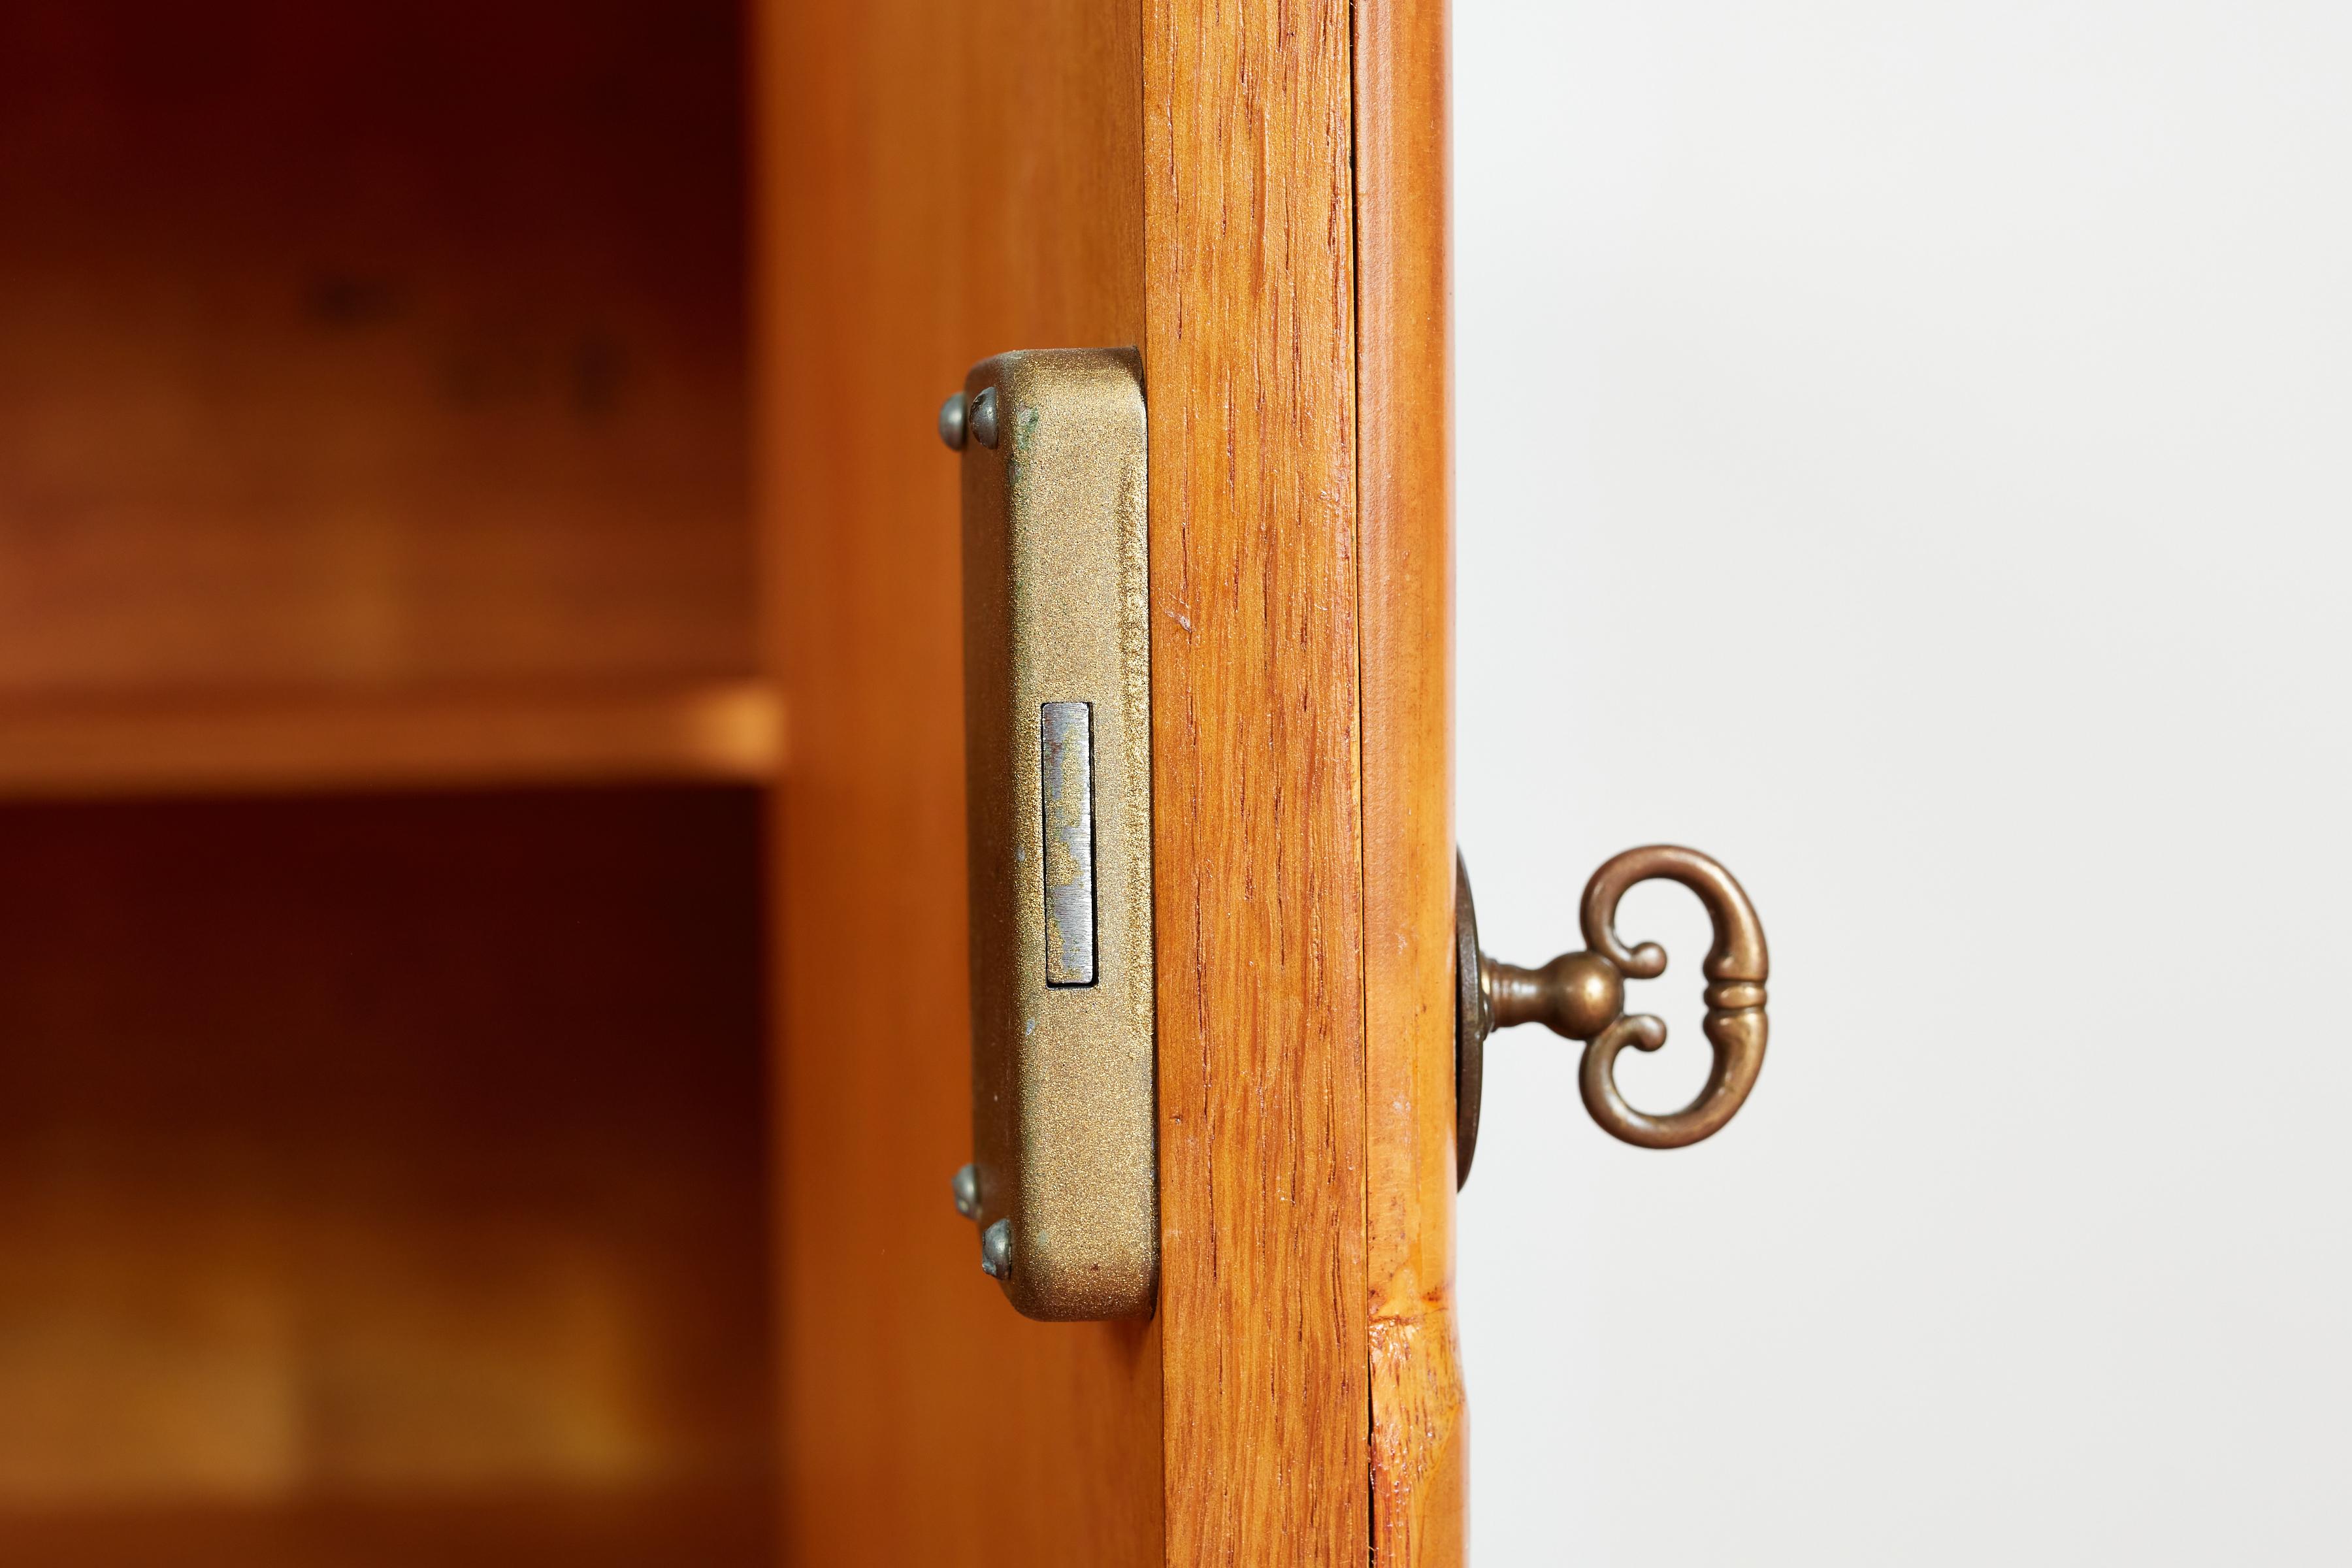
<path id="1" fill-rule="evenodd" d="M 1454 376 L 1446 0 L 1357 0 L 1357 475 L 1371 1509 L 1463 1561 L 1454 1324 Z"/>

